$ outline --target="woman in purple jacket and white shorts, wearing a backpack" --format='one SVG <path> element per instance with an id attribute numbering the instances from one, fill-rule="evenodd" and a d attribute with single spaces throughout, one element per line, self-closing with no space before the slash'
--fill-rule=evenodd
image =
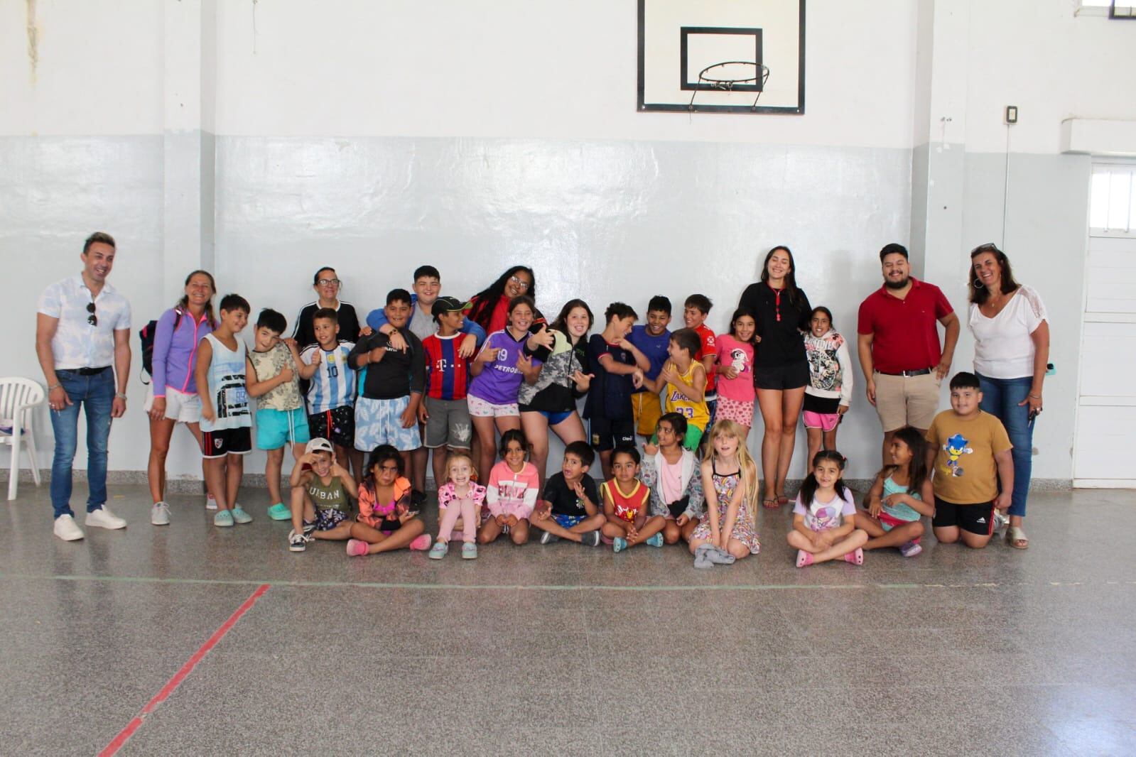
<path id="1" fill-rule="evenodd" d="M 150 496 L 153 497 L 150 522 L 154 525 L 169 523 L 169 505 L 165 499 L 166 455 L 174 426 L 185 423 L 197 439 L 198 448 L 201 448 L 201 397 L 198 396 L 193 369 L 198 344 L 217 322 L 212 309 L 215 294 L 217 285 L 212 276 L 208 271 L 193 271 L 185 277 L 185 294 L 161 314 L 154 329 L 153 380 L 143 405 L 150 415 L 147 478 L 150 480 Z M 209 496 L 206 507 L 211 501 L 212 496 Z"/>

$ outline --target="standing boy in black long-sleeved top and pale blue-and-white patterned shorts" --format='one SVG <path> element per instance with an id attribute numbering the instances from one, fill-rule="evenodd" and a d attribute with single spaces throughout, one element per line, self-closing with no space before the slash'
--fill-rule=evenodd
<path id="1" fill-rule="evenodd" d="M 384 444 L 402 455 L 403 470 L 410 470 L 410 453 L 421 446 L 418 434 L 418 405 L 425 385 L 426 361 L 423 343 L 407 328 L 410 293 L 391 289 L 386 295 L 386 320 L 407 344 L 396 350 L 391 337 L 374 331 L 360 337 L 348 355 L 357 370 L 366 367 L 362 394 L 356 401 L 356 449 L 374 449 Z M 411 495 L 411 505 L 414 505 Z"/>

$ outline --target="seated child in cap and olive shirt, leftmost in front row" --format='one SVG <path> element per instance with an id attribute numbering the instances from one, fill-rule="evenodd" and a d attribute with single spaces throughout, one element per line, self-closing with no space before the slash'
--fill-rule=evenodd
<path id="1" fill-rule="evenodd" d="M 310 470 L 304 470 L 306 468 Z M 351 497 L 358 497 L 351 472 L 335 462 L 335 447 L 319 437 L 308 441 L 289 479 L 292 530 L 287 548 L 303 552 L 312 539 L 342 541 L 351 536 Z"/>

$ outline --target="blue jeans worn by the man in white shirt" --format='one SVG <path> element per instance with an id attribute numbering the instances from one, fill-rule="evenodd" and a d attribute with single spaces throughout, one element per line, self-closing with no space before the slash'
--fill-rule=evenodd
<path id="1" fill-rule="evenodd" d="M 56 371 L 72 404 L 52 410 L 51 429 L 56 434 L 56 454 L 51 459 L 51 506 L 56 518 L 74 515 L 70 508 L 72 462 L 78 446 L 80 406 L 86 413 L 86 479 L 90 496 L 86 512 L 107 502 L 107 439 L 110 437 L 110 409 L 115 403 L 115 371 L 110 368 L 95 376 L 75 371 Z"/>

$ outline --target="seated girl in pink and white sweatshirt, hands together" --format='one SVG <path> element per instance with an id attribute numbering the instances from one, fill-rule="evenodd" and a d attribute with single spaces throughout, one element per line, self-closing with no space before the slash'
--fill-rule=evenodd
<path id="1" fill-rule="evenodd" d="M 488 491 L 485 495 L 487 518 L 482 521 L 477 540 L 495 541 L 508 533 L 516 545 L 528 541 L 528 522 L 536 507 L 541 479 L 536 466 L 525 461 L 528 443 L 520 429 L 501 435 L 501 462 L 490 471 Z"/>

